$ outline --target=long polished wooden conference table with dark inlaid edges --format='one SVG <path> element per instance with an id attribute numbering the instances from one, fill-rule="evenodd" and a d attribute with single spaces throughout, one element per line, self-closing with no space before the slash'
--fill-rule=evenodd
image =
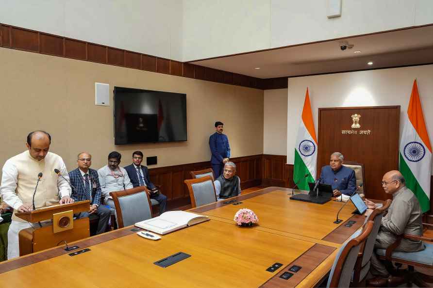
<path id="1" fill-rule="evenodd" d="M 234 197 L 237 205 L 228 199 L 190 209 L 211 220 L 157 241 L 129 226 L 76 241 L 73 251 L 62 246 L 8 260 L 0 277 L 10 287 L 314 287 L 365 217 L 352 214 L 348 203 L 334 224 L 344 203 L 290 200 L 291 191 L 269 187 Z M 240 208 L 253 210 L 258 224 L 238 226 L 233 217 Z M 154 264 L 178 252 L 190 257 L 166 268 Z M 275 263 L 282 265 L 268 271 Z M 294 265 L 300 270 L 290 272 Z"/>

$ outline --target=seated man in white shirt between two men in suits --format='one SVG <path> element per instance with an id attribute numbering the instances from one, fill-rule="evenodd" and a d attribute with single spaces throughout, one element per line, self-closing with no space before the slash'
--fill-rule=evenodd
<path id="1" fill-rule="evenodd" d="M 133 188 L 133 183 L 126 170 L 119 166 L 122 155 L 113 151 L 108 154 L 108 164 L 98 170 L 101 193 L 105 197 L 105 205 L 115 208 L 110 192 Z"/>

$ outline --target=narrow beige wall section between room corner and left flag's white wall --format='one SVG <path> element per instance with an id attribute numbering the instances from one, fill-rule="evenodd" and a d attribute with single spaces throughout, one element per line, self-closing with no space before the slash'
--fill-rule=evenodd
<path id="1" fill-rule="evenodd" d="M 263 114 L 263 153 L 286 155 L 287 89 L 265 90 Z"/>

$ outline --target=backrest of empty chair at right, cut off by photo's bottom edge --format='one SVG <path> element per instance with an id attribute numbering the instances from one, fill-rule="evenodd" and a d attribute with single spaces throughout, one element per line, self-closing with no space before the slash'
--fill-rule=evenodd
<path id="1" fill-rule="evenodd" d="M 326 287 L 349 287 L 359 250 L 371 233 L 373 225 L 373 221 L 368 221 L 362 230 L 357 230 L 343 243 L 335 256 Z"/>

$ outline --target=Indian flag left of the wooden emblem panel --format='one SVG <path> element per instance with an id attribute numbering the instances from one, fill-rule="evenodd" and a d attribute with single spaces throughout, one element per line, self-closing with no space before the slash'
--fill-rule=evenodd
<path id="1" fill-rule="evenodd" d="M 310 96 L 305 94 L 302 119 L 298 129 L 295 144 L 295 169 L 293 181 L 298 183 L 301 190 L 309 190 L 308 182 L 315 182 L 317 164 L 317 138 L 314 129 L 313 114 L 311 112 Z M 306 176 L 306 177 L 305 177 Z"/>

